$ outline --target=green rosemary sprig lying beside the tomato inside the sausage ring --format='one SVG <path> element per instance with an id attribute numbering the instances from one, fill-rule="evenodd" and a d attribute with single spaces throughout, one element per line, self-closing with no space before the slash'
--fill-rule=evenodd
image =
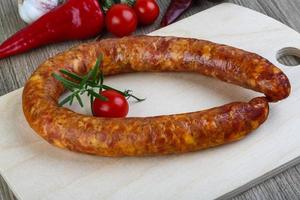
<path id="1" fill-rule="evenodd" d="M 101 95 L 102 90 L 115 90 L 125 96 L 127 99 L 132 97 L 138 102 L 145 100 L 134 96 L 131 90 L 125 90 L 122 92 L 113 87 L 105 85 L 104 76 L 102 70 L 100 69 L 102 59 L 102 55 L 99 56 L 93 68 L 85 76 L 79 76 L 65 69 L 59 71 L 61 75 L 57 73 L 52 74 L 56 80 L 58 80 L 67 90 L 71 92 L 69 96 L 59 102 L 59 106 L 63 106 L 67 103 L 72 105 L 74 99 L 76 99 L 79 105 L 83 107 L 84 104 L 80 96 L 87 93 L 87 96 L 90 98 L 90 105 L 92 108 L 95 98 L 101 99 L 102 101 L 108 101 L 105 96 Z"/>

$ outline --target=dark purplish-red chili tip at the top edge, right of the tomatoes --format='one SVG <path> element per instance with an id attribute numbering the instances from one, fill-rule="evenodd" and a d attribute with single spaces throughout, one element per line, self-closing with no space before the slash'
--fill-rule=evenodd
<path id="1" fill-rule="evenodd" d="M 172 0 L 160 26 L 167 26 L 173 23 L 192 4 L 192 0 Z"/>

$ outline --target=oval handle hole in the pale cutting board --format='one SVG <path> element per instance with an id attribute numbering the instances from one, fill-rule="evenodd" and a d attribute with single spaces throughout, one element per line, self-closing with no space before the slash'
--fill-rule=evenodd
<path id="1" fill-rule="evenodd" d="M 276 54 L 277 61 L 283 65 L 294 67 L 300 65 L 300 49 L 286 47 L 280 49 Z"/>

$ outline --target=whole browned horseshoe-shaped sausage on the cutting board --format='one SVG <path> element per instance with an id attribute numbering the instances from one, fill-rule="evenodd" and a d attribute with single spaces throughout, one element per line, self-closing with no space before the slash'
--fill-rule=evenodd
<path id="1" fill-rule="evenodd" d="M 289 95 L 287 77 L 264 58 L 208 41 L 174 37 L 127 37 L 83 44 L 43 63 L 25 85 L 23 110 L 30 126 L 48 142 L 102 156 L 163 155 L 233 142 L 268 116 L 268 100 L 255 98 L 206 111 L 169 116 L 106 119 L 58 107 L 63 86 L 53 72 L 87 73 L 99 54 L 103 71 L 198 72 L 265 93 L 278 101 Z"/>

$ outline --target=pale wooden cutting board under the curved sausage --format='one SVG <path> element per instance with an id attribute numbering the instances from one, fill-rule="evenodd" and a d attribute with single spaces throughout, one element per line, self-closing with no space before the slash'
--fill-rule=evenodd
<path id="1" fill-rule="evenodd" d="M 297 32 L 252 10 L 221 4 L 151 35 L 208 39 L 256 52 L 288 75 L 292 94 L 272 104 L 268 121 L 240 142 L 183 155 L 103 158 L 61 150 L 38 137 L 24 119 L 19 89 L 0 98 L 0 173 L 18 199 L 213 199 L 300 155 L 300 66 L 276 60 L 279 50 L 300 48 Z M 185 73 L 106 81 L 147 98 L 131 103 L 130 116 L 190 112 L 261 95 Z"/>

